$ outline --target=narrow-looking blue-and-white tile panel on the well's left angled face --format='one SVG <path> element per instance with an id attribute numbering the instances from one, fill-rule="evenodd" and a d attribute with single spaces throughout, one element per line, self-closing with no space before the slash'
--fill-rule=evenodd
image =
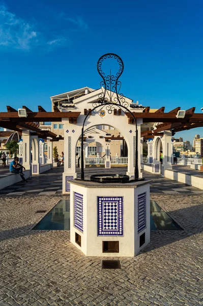
<path id="1" fill-rule="evenodd" d="M 74 193 L 74 226 L 83 233 L 83 195 Z"/>

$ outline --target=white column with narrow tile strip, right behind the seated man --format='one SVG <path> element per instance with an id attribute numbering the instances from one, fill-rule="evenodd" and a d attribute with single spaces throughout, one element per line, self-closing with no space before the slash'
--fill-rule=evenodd
<path id="1" fill-rule="evenodd" d="M 22 130 L 22 161 L 26 170 L 30 170 L 31 175 L 31 136 L 30 131 Z"/>

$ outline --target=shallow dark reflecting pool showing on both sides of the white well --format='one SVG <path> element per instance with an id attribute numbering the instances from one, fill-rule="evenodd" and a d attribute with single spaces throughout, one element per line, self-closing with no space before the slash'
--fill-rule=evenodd
<path id="1" fill-rule="evenodd" d="M 151 231 L 183 230 L 154 200 L 150 200 L 150 229 Z M 33 230 L 70 230 L 70 200 L 60 200 Z"/>

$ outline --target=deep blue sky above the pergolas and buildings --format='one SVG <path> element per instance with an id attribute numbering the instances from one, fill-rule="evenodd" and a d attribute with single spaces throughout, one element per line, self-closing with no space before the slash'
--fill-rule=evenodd
<path id="1" fill-rule="evenodd" d="M 124 61 L 122 92 L 165 111 L 203 107 L 203 2 L 0 0 L 0 111 L 99 88 L 97 60 Z M 184 140 L 203 128 L 177 133 Z"/>

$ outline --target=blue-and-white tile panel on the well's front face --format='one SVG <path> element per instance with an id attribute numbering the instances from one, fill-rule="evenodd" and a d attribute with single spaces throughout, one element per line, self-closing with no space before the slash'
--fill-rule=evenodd
<path id="1" fill-rule="evenodd" d="M 123 196 L 97 197 L 98 236 L 123 236 Z"/>

